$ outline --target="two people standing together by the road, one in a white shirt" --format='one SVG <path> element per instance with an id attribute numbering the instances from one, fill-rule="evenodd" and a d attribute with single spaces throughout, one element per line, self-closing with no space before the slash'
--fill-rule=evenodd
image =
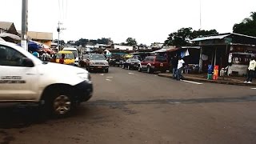
<path id="1" fill-rule="evenodd" d="M 181 78 L 183 78 L 182 70 L 185 62 L 182 57 L 175 55 L 174 58 L 171 59 L 170 64 L 173 66 L 173 78 L 180 81 Z"/>

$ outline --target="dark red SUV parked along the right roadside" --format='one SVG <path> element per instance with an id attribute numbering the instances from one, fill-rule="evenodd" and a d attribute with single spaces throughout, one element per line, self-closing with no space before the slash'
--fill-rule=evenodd
<path id="1" fill-rule="evenodd" d="M 147 56 L 138 66 L 138 71 L 146 70 L 147 73 L 161 71 L 165 73 L 169 70 L 167 58 L 162 56 Z"/>

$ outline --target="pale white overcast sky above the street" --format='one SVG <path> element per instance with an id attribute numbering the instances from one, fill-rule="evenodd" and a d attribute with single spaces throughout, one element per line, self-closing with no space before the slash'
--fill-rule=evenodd
<path id="1" fill-rule="evenodd" d="M 256 0 L 201 0 L 202 29 L 232 32 L 256 11 Z M 0 21 L 22 27 L 22 0 L 0 0 Z M 51 32 L 58 38 L 58 21 L 63 23 L 60 38 L 112 38 L 125 42 L 136 38 L 150 45 L 164 42 L 168 34 L 182 27 L 200 28 L 200 0 L 28 0 L 30 31 Z"/>

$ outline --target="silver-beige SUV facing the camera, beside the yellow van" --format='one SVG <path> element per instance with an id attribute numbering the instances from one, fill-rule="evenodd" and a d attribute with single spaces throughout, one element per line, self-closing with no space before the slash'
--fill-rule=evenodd
<path id="1" fill-rule="evenodd" d="M 106 61 L 106 58 L 103 54 L 91 54 L 89 66 L 87 70 L 102 70 L 105 73 L 109 72 L 109 62 Z"/>

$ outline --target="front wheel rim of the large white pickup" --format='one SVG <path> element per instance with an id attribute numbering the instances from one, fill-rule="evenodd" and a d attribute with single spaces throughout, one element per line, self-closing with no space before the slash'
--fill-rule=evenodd
<path id="1" fill-rule="evenodd" d="M 71 109 L 70 98 L 66 95 L 60 95 L 54 99 L 54 111 L 57 114 L 66 114 Z"/>

